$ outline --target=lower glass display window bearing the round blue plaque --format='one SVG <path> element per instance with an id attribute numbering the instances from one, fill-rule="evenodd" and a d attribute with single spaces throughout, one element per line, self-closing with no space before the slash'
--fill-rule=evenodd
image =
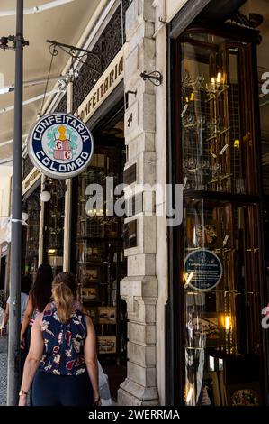
<path id="1" fill-rule="evenodd" d="M 227 404 L 223 395 L 222 401 L 215 395 L 204 403 L 203 384 L 211 381 L 216 390 L 213 379 L 218 371 L 218 387 L 224 391 L 229 358 L 259 351 L 261 336 L 256 328 L 260 325 L 262 265 L 258 214 L 257 205 L 213 200 L 185 203 L 182 283 L 188 405 Z M 215 364 L 216 358 L 224 370 Z"/>

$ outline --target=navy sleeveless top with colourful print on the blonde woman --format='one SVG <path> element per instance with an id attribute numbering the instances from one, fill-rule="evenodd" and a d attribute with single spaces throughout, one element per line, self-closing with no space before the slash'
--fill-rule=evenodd
<path id="1" fill-rule="evenodd" d="M 80 375 L 85 373 L 84 343 L 86 316 L 74 303 L 74 312 L 67 323 L 58 319 L 54 302 L 43 313 L 41 331 L 44 351 L 40 371 L 57 375 Z"/>

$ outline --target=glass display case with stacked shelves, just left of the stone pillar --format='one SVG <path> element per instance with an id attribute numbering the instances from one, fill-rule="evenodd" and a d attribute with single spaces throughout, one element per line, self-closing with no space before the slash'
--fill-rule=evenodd
<path id="1" fill-rule="evenodd" d="M 99 355 L 126 355 L 122 334 L 120 281 L 125 276 L 123 255 L 123 218 L 109 213 L 102 193 L 94 193 L 91 184 L 106 193 L 106 178 L 113 187 L 121 180 L 121 149 L 96 146 L 90 167 L 77 179 L 76 274 L 79 297 L 93 319 Z M 96 194 L 95 201 L 91 196 Z M 101 200 L 103 202 L 101 202 Z M 116 198 L 112 198 L 112 205 Z"/>

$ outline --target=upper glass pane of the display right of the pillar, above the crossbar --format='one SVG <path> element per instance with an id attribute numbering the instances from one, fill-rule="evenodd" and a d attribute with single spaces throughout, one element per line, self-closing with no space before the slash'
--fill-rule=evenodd
<path id="1" fill-rule="evenodd" d="M 181 44 L 181 130 L 186 190 L 257 193 L 246 46 L 187 32 Z"/>

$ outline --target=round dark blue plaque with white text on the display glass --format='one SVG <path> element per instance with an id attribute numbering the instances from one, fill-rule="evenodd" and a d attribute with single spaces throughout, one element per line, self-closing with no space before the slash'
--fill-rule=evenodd
<path id="1" fill-rule="evenodd" d="M 185 283 L 195 290 L 211 290 L 222 277 L 219 257 L 210 250 L 199 249 L 189 253 L 184 261 Z"/>

